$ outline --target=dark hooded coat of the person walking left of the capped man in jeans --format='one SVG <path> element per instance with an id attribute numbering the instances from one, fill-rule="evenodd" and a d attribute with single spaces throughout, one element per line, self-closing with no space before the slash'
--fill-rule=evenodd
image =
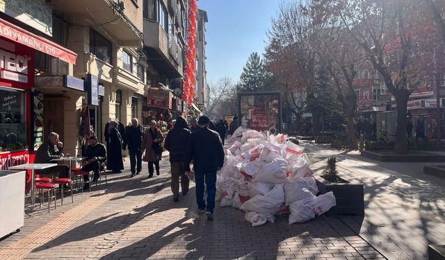
<path id="1" fill-rule="evenodd" d="M 187 123 L 177 119 L 175 127 L 168 132 L 165 137 L 164 147 L 170 152 L 170 162 L 184 162 L 186 155 L 187 142 L 191 132 L 188 130 Z"/>

